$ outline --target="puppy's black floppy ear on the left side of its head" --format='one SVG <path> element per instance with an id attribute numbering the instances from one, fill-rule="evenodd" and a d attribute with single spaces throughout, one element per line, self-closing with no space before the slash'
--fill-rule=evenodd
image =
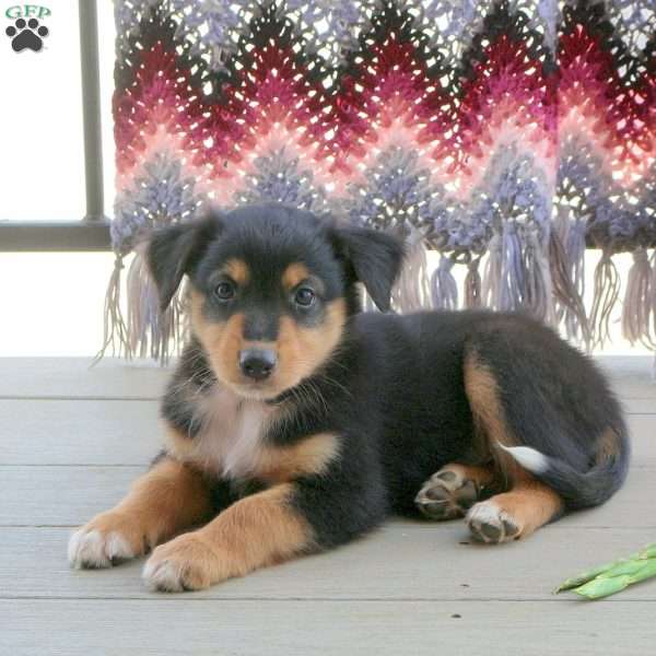
<path id="1" fill-rule="evenodd" d="M 157 286 L 162 312 L 168 307 L 183 276 L 198 262 L 219 232 L 218 218 L 209 216 L 202 221 L 171 225 L 151 236 L 145 259 Z"/>

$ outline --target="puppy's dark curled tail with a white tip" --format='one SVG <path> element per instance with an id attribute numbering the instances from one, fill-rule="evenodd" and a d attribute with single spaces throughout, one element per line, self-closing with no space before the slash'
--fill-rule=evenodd
<path id="1" fill-rule="evenodd" d="M 587 471 L 578 471 L 564 460 L 529 446 L 499 446 L 539 481 L 558 492 L 572 511 L 596 506 L 610 499 L 622 487 L 631 458 L 624 431 L 606 433 Z"/>

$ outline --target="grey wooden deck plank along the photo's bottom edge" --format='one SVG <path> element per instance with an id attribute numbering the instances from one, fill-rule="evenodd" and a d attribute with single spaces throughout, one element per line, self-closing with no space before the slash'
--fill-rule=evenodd
<path id="1" fill-rule="evenodd" d="M 3 653 L 644 656 L 654 604 L 4 601 Z"/>

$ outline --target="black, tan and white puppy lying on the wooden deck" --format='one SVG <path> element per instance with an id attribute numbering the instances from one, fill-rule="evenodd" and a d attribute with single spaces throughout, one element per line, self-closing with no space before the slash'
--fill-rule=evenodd
<path id="1" fill-rule="evenodd" d="M 166 446 L 71 538 L 74 566 L 153 549 L 149 586 L 199 589 L 343 544 L 393 513 L 465 517 L 499 543 L 624 480 L 618 402 L 548 328 L 516 314 L 360 312 L 359 283 L 389 309 L 402 260 L 389 235 L 271 204 L 166 229 L 148 258 L 162 307 L 189 280 Z"/>

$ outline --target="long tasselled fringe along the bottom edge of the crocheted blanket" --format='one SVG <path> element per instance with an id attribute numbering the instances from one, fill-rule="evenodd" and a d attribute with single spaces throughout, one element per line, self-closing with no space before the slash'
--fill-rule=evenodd
<path id="1" fill-rule="evenodd" d="M 594 297 L 586 316 L 583 301 L 585 236 L 579 227 L 569 224 L 564 232 L 552 231 L 547 248 L 535 232 L 504 227 L 489 244 L 482 277 L 482 256 L 472 257 L 468 253 L 442 254 L 430 276 L 427 250 L 422 241 L 413 241 L 393 291 L 393 307 L 401 313 L 431 306 L 528 309 L 542 320 L 561 323 L 567 337 L 583 342 L 588 350 L 604 347 L 610 340 L 610 321 L 620 298 L 620 276 L 610 248 L 605 249 L 595 269 Z M 467 266 L 461 298 L 454 277 L 454 266 L 458 263 Z M 165 364 L 179 352 L 188 330 L 185 285 L 169 308 L 160 313 L 155 284 L 138 248 L 127 272 L 124 315 L 124 257 L 117 255 L 105 296 L 103 347 L 94 364 L 108 353 L 127 359 L 151 358 Z M 368 296 L 365 296 L 365 308 L 373 309 Z M 651 257 L 644 247 L 633 253 L 621 327 L 631 343 L 641 342 L 656 350 L 656 250 Z"/>

